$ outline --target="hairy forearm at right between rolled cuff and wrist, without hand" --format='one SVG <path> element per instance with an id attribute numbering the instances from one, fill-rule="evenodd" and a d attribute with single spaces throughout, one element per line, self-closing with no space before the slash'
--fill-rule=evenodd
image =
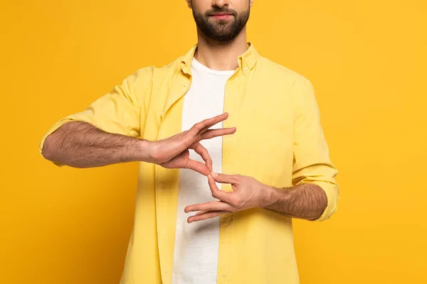
<path id="1" fill-rule="evenodd" d="M 327 207 L 327 196 L 318 185 L 305 183 L 277 189 L 265 189 L 265 209 L 270 209 L 289 217 L 315 220 Z"/>

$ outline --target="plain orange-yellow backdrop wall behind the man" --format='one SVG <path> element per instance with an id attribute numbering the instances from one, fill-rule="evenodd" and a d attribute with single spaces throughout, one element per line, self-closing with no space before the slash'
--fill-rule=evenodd
<path id="1" fill-rule="evenodd" d="M 59 169 L 38 143 L 138 68 L 184 54 L 191 11 L 184 0 L 0 7 L 0 283 L 118 283 L 137 163 Z M 426 27 L 425 0 L 255 0 L 248 40 L 314 84 L 339 170 L 337 214 L 295 221 L 302 284 L 427 283 Z"/>

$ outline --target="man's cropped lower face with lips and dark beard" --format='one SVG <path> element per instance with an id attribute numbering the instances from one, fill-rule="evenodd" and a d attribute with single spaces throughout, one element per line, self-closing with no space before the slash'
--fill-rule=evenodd
<path id="1" fill-rule="evenodd" d="M 253 0 L 186 0 L 194 21 L 207 37 L 218 42 L 236 38 L 248 22 Z"/>

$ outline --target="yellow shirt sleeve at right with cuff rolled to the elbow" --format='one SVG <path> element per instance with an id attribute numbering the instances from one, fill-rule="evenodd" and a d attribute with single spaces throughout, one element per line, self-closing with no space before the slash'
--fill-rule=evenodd
<path id="1" fill-rule="evenodd" d="M 329 219 L 337 210 L 339 187 L 335 181 L 337 168 L 330 161 L 329 149 L 320 124 L 320 111 L 312 84 L 305 80 L 295 113 L 292 185 L 307 182 L 325 191 L 327 207 L 320 218 Z"/>

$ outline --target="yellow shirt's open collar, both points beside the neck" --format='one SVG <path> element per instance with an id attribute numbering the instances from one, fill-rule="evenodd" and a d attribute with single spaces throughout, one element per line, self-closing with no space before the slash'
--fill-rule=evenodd
<path id="1" fill-rule="evenodd" d="M 247 72 L 252 70 L 255 66 L 260 55 L 256 51 L 253 43 L 248 42 L 248 49 L 245 53 L 238 57 L 238 66 L 241 67 L 243 75 L 246 75 Z M 184 55 L 183 60 L 181 61 L 182 71 L 186 74 L 191 74 L 191 60 L 194 58 L 194 53 L 196 53 L 197 44 L 193 45 L 193 47 Z"/>

